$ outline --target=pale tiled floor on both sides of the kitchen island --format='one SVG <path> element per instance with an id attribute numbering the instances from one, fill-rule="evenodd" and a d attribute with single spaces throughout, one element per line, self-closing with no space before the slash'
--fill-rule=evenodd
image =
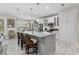
<path id="1" fill-rule="evenodd" d="M 2 55 L 26 55 L 24 50 L 21 50 L 17 45 L 17 39 L 8 39 L 3 46 Z M 64 41 L 56 41 L 55 55 L 78 55 L 79 46 L 72 45 Z"/>

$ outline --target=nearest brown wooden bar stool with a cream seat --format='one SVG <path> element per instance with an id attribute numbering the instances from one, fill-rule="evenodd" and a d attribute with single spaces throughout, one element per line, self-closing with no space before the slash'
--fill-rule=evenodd
<path id="1" fill-rule="evenodd" d="M 32 49 L 32 51 L 30 51 L 30 49 Z M 27 36 L 27 38 L 25 39 L 25 53 L 27 53 L 27 55 L 32 54 L 32 53 L 37 54 L 37 40 L 36 39 L 32 39 L 30 36 Z"/>

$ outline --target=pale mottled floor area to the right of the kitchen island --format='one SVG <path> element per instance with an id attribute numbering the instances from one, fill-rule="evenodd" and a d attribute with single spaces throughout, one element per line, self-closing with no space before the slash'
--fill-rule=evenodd
<path id="1" fill-rule="evenodd" d="M 56 42 L 56 55 L 79 55 L 79 46 L 65 42 Z"/>

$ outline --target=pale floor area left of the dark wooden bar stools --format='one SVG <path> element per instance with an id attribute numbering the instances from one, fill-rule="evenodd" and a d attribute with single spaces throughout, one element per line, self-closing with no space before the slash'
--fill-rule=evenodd
<path id="1" fill-rule="evenodd" d="M 3 47 L 3 55 L 24 55 L 24 51 L 18 47 L 16 39 L 8 39 L 6 42 L 6 46 Z"/>

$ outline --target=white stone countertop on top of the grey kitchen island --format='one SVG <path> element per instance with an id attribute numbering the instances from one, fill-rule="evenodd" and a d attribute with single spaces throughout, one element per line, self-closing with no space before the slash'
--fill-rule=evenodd
<path id="1" fill-rule="evenodd" d="M 49 32 L 35 32 L 35 31 L 24 31 L 21 33 L 25 33 L 25 34 L 29 34 L 29 35 L 33 35 L 33 36 L 37 36 L 37 37 L 46 37 L 49 35 L 53 35 L 55 33 L 49 33 Z"/>

